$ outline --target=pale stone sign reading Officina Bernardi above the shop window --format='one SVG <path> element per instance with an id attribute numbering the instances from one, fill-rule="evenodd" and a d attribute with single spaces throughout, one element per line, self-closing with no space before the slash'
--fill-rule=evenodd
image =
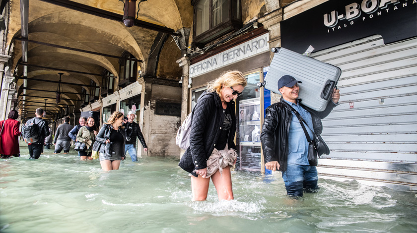
<path id="1" fill-rule="evenodd" d="M 190 78 L 269 51 L 268 40 L 269 34 L 267 33 L 192 64 L 190 65 Z"/>

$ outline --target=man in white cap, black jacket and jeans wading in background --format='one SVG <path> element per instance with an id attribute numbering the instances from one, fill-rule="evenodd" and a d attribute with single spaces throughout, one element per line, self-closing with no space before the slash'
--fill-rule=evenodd
<path id="1" fill-rule="evenodd" d="M 128 122 L 125 123 L 126 138 L 128 140 L 125 145 L 125 154 L 126 151 L 129 152 L 132 162 L 138 161 L 136 154 L 136 137 L 139 138 L 139 141 L 143 146 L 143 150 L 145 152 L 147 151 L 145 139 L 143 138 L 142 132 L 140 131 L 139 124 L 133 121 L 135 117 L 135 113 L 130 111 L 128 113 Z"/>

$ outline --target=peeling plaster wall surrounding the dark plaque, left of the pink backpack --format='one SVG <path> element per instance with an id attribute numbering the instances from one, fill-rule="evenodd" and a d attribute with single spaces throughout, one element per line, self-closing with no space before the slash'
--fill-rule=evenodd
<path id="1" fill-rule="evenodd" d="M 148 92 L 148 91 L 146 91 Z M 145 139 L 149 148 L 147 156 L 180 156 L 175 136 L 181 117 L 156 115 L 156 102 L 181 104 L 181 88 L 152 84 L 150 101 L 144 107 L 149 116 L 144 117 Z"/>

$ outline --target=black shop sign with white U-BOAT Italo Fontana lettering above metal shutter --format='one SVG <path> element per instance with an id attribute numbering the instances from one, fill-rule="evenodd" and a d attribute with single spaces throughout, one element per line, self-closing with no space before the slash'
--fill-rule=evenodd
<path id="1" fill-rule="evenodd" d="M 304 53 L 372 35 L 385 44 L 417 36 L 417 0 L 329 0 L 281 22 L 281 46 Z"/>

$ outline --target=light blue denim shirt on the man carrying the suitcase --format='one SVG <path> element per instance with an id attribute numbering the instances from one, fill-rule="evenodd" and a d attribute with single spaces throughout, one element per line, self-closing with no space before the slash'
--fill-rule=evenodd
<path id="1" fill-rule="evenodd" d="M 313 132 L 310 128 L 313 128 L 313 120 L 311 119 L 311 114 L 303 109 L 301 106 L 297 104 L 288 102 L 284 100 L 287 104 L 289 104 L 293 109 L 295 109 L 301 117 L 307 122 L 308 126 L 305 125 L 307 129 L 308 135 L 310 138 L 313 138 Z M 303 128 L 301 127 L 300 121 L 292 113 L 292 119 L 289 126 L 289 133 L 288 133 L 288 160 L 287 163 L 289 164 L 297 164 L 297 165 L 309 165 L 307 154 L 308 154 L 308 141 L 305 137 L 305 133 Z"/>

